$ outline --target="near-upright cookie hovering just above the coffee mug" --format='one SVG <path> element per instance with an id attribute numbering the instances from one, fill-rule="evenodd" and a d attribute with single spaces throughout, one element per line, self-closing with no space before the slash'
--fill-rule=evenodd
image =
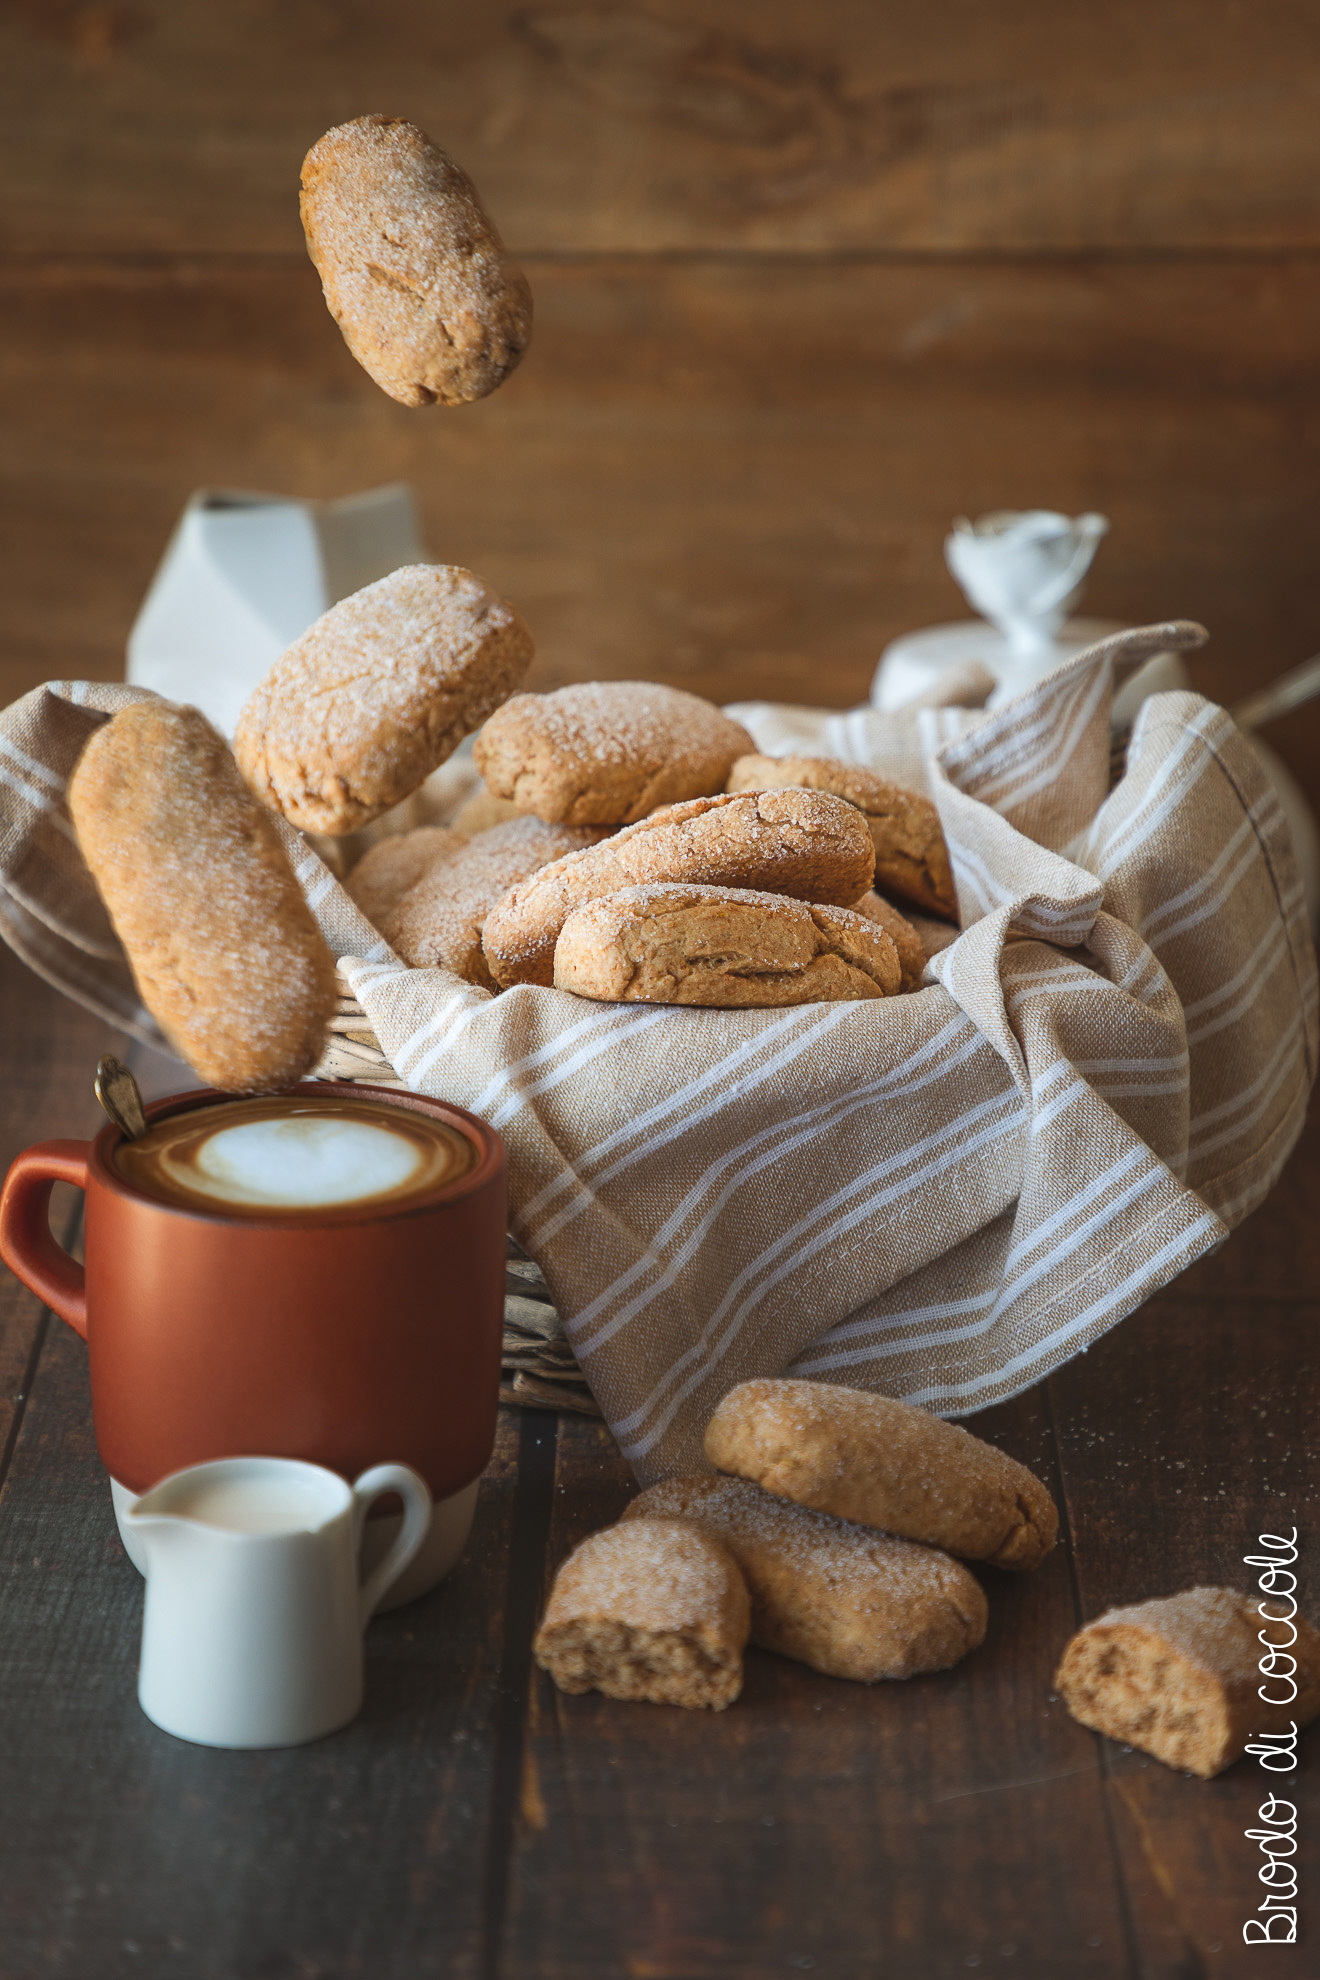
<path id="1" fill-rule="evenodd" d="M 334 956 L 206 717 L 168 701 L 121 709 L 77 760 L 69 816 L 180 1059 L 222 1093 L 303 1079 L 336 1008 Z"/>

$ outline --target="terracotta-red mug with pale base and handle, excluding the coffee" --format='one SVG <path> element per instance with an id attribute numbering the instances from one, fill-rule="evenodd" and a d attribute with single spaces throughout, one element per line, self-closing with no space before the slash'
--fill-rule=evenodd
<path id="1" fill-rule="evenodd" d="M 394 1590 L 402 1602 L 457 1558 L 495 1443 L 505 1146 L 485 1121 L 420 1093 L 338 1081 L 317 1091 L 445 1121 L 477 1160 L 420 1200 L 243 1220 L 135 1188 L 107 1125 L 91 1142 L 46 1140 L 16 1158 L 0 1257 L 87 1340 L 121 1531 L 139 1493 L 218 1457 L 301 1457 L 344 1479 L 406 1463 L 431 1489 L 435 1531 Z M 176 1093 L 146 1119 L 228 1099 Z M 51 1236 L 55 1182 L 85 1190 L 85 1271 Z M 372 1534 L 368 1566 L 390 1536 Z"/>

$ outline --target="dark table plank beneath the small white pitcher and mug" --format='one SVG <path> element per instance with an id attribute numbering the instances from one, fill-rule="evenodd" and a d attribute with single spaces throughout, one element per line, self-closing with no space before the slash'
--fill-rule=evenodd
<path id="1" fill-rule="evenodd" d="M 366 1705 L 313 1746 L 214 1752 L 137 1705 L 142 1584 L 59 1323 L 0 1493 L 6 1980 L 467 1980 L 485 1887 L 519 1424 L 453 1576 L 376 1620 Z"/>

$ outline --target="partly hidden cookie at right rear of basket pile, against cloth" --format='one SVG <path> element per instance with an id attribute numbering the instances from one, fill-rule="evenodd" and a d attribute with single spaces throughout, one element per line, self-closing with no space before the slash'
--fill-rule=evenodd
<path id="1" fill-rule="evenodd" d="M 930 798 L 833 756 L 740 756 L 728 790 L 829 790 L 867 814 L 875 840 L 875 881 L 883 893 L 958 919 L 958 895 L 948 863 L 940 814 Z"/>

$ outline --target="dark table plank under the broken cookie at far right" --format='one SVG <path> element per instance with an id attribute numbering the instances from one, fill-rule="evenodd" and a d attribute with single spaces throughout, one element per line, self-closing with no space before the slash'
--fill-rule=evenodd
<path id="1" fill-rule="evenodd" d="M 1288 1236 L 1288 1200 L 1271 1200 L 1259 1238 L 1294 1257 Z M 1083 1612 L 1090 1620 L 1205 1582 L 1255 1592 L 1257 1570 L 1243 1554 L 1261 1552 L 1261 1533 L 1298 1527 L 1302 1612 L 1320 1618 L 1320 1303 L 1296 1297 L 1300 1287 L 1292 1297 L 1239 1287 L 1233 1299 L 1209 1299 L 1181 1285 L 1049 1384 Z M 1320 1877 L 1316 1754 L 1312 1731 L 1298 1772 L 1271 1774 L 1247 1758 L 1199 1782 L 1102 1742 L 1142 1974 L 1259 1974 L 1261 1952 L 1243 1944 L 1243 1923 L 1265 1897 L 1263 1857 L 1245 1832 L 1259 1828 L 1271 1792 L 1298 1806 L 1306 1913 Z M 1274 1948 L 1269 1960 L 1271 1970 L 1312 1974 L 1314 1944 Z"/>

